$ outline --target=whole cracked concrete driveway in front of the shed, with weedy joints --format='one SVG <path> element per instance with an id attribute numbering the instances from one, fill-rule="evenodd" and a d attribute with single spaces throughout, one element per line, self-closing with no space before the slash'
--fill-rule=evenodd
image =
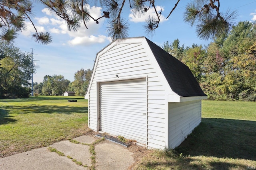
<path id="1" fill-rule="evenodd" d="M 126 147 L 107 140 L 96 143 L 99 139 L 84 135 L 75 138 L 73 142 L 61 141 L 50 145 L 56 152 L 43 147 L 0 158 L 0 169 L 127 170 L 134 164 L 133 153 Z M 65 156 L 60 156 L 57 152 L 62 152 Z"/>

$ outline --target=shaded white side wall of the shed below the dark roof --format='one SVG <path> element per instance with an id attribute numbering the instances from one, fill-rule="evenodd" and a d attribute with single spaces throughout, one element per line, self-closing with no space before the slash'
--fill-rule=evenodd
<path id="1" fill-rule="evenodd" d="M 201 122 L 201 100 L 168 103 L 168 148 L 175 148 Z"/>

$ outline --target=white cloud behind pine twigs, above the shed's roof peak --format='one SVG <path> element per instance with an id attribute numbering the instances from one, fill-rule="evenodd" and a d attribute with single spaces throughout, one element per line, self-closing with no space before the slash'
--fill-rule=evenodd
<path id="1" fill-rule="evenodd" d="M 160 6 L 156 6 L 156 10 L 159 13 L 162 9 L 162 12 L 164 11 L 164 8 L 160 7 Z M 156 13 L 154 8 L 150 8 L 147 12 L 145 12 L 144 16 L 140 16 L 140 17 L 136 17 L 134 15 L 134 13 L 132 12 L 132 10 L 130 10 L 130 14 L 129 14 L 129 20 L 135 23 L 138 22 L 145 22 L 146 19 L 148 19 L 148 16 L 150 17 L 156 17 Z M 168 19 L 166 19 L 163 15 L 160 16 L 160 22 L 164 22 L 167 21 Z"/>

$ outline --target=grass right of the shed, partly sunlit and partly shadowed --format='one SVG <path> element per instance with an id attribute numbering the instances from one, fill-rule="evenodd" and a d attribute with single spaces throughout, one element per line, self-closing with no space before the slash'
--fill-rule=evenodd
<path id="1" fill-rule="evenodd" d="M 155 150 L 139 170 L 256 167 L 256 102 L 202 101 L 202 123 L 174 150 Z"/>

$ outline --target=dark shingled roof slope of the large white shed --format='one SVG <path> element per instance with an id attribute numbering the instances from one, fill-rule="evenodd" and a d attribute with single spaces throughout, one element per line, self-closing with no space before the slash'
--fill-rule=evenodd
<path id="1" fill-rule="evenodd" d="M 172 91 L 182 97 L 207 96 L 185 64 L 146 39 Z"/>

